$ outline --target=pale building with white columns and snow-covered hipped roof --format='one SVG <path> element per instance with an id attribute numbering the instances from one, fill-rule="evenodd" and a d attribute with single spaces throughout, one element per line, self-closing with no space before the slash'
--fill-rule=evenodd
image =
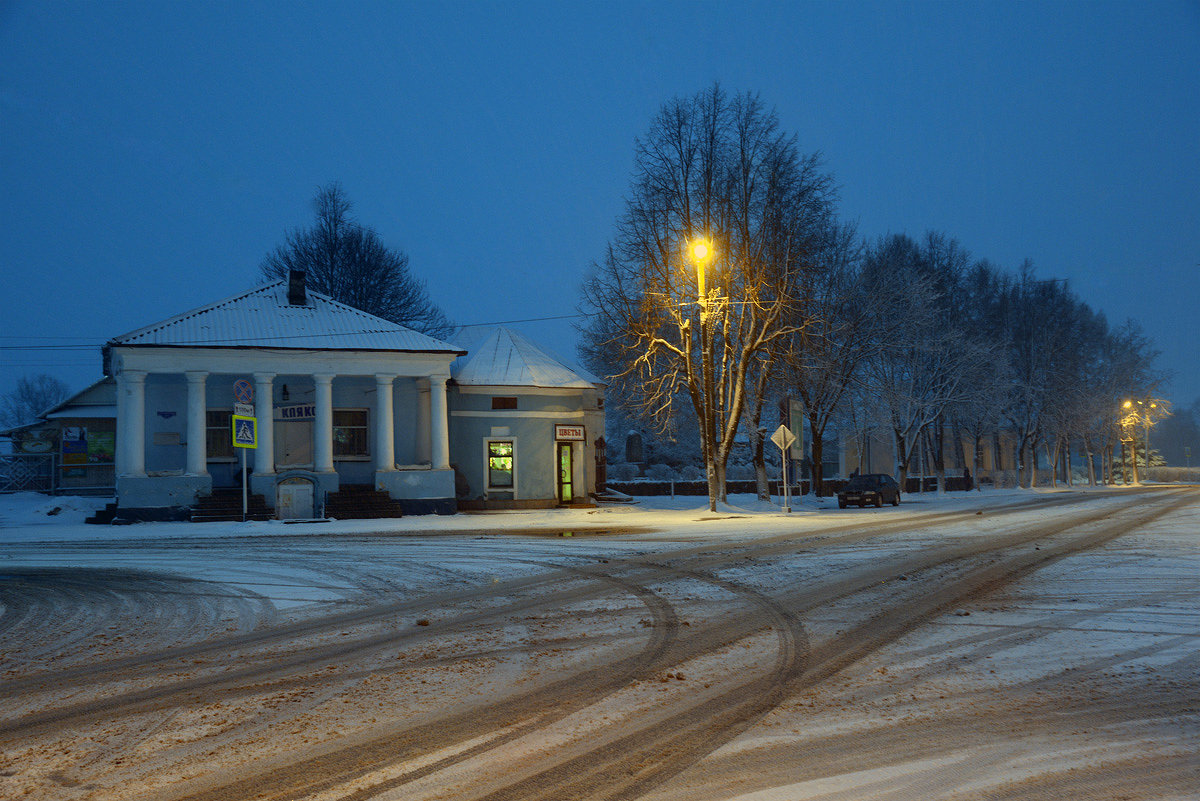
<path id="1" fill-rule="evenodd" d="M 454 512 L 446 383 L 464 353 L 308 293 L 302 276 L 115 337 L 118 508 L 184 516 L 241 484 L 238 385 L 257 424 L 250 490 L 268 505 L 282 486 L 306 486 L 320 507 L 370 484 L 406 512 Z"/>

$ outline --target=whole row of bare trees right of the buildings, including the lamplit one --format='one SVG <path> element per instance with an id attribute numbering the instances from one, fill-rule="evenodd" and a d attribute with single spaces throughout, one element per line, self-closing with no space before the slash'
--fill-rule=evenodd
<path id="1" fill-rule="evenodd" d="M 943 234 L 864 242 L 835 201 L 820 155 L 754 95 L 671 101 L 636 143 L 584 284 L 581 356 L 660 432 L 697 427 L 713 508 L 739 430 L 766 492 L 762 412 L 786 395 L 804 405 L 816 492 L 832 427 L 888 430 L 901 481 L 920 445 L 944 478 L 947 438 L 973 444 L 960 458 L 978 471 L 1007 432 L 1025 486 L 1037 447 L 1055 465 L 1076 441 L 1111 452 L 1120 399 L 1156 380 L 1135 324 L 1110 327 L 1064 282 L 1028 263 L 1009 275 Z M 697 240 L 715 258 L 689 258 Z"/>

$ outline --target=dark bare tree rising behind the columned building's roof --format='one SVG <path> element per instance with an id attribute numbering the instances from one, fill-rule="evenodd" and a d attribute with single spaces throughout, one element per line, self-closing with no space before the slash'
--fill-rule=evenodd
<path id="1" fill-rule="evenodd" d="M 263 276 L 287 278 L 299 270 L 308 287 L 338 302 L 431 337 L 450 336 L 454 326 L 409 272 L 408 255 L 350 217 L 352 207 L 340 185 L 318 189 L 316 223 L 287 234 L 263 259 Z"/>

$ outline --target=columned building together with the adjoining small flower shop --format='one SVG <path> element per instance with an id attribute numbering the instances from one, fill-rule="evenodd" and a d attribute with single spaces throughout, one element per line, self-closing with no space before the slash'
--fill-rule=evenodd
<path id="1" fill-rule="evenodd" d="M 565 367 L 547 379 L 558 362 L 512 332 L 487 342 L 469 355 L 295 275 L 115 337 L 118 513 L 187 517 L 244 470 L 282 517 L 316 517 L 350 488 L 404 513 L 586 500 L 602 385 L 570 385 Z"/>

